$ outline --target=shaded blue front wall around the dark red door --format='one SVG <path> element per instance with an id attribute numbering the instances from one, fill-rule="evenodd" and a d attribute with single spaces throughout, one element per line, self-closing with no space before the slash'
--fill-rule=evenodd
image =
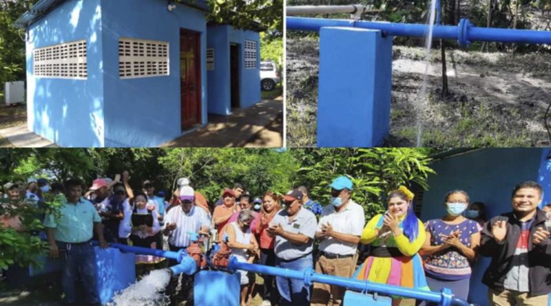
<path id="1" fill-rule="evenodd" d="M 103 0 L 105 145 L 157 146 L 180 131 L 180 28 L 201 33 L 201 116 L 207 122 L 205 14 L 165 0 Z M 169 42 L 169 76 L 118 77 L 120 37 Z"/>

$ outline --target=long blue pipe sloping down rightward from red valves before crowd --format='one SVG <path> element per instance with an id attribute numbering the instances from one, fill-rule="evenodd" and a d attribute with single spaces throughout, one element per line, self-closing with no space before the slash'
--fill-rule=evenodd
<path id="1" fill-rule="evenodd" d="M 240 263 L 235 257 L 231 257 L 229 261 L 229 270 L 236 272 L 236 270 L 245 270 L 249 272 L 259 274 L 269 274 L 275 276 L 281 276 L 286 278 L 304 279 L 306 285 L 310 285 L 312 282 L 326 283 L 329 285 L 336 285 L 340 287 L 346 287 L 348 289 L 354 289 L 357 291 L 378 292 L 387 295 L 404 296 L 406 298 L 415 298 L 419 300 L 428 300 L 430 302 L 440 303 L 440 305 L 456 305 L 456 306 L 468 306 L 469 303 L 461 298 L 450 296 L 449 292 L 431 292 L 422 291 L 416 289 L 410 289 L 405 287 L 398 287 L 394 285 L 377 284 L 366 281 L 358 281 L 351 278 L 344 278 L 340 276 L 326 275 L 314 273 L 312 268 L 306 269 L 306 271 L 294 271 L 289 269 L 283 269 L 280 267 L 270 267 L 267 265 L 255 265 L 253 263 Z"/>

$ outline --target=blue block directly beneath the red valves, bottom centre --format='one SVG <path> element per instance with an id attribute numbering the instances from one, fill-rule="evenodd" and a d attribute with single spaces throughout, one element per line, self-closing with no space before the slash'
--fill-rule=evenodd
<path id="1" fill-rule="evenodd" d="M 239 306 L 240 274 L 221 271 L 201 271 L 194 278 L 196 306 Z"/>

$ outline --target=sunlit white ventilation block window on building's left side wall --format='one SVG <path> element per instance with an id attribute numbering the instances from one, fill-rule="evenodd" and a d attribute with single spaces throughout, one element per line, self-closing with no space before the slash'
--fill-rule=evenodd
<path id="1" fill-rule="evenodd" d="M 86 80 L 86 41 L 50 45 L 33 50 L 34 76 Z"/>

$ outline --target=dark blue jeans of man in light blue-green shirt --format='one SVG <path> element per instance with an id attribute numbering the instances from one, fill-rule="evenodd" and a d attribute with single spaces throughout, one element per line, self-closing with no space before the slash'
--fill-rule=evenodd
<path id="1" fill-rule="evenodd" d="M 61 287 L 67 303 L 76 303 L 76 276 L 83 283 L 86 303 L 99 303 L 96 290 L 96 254 L 92 242 L 65 243 L 57 241 L 59 257 L 63 259 Z"/>

